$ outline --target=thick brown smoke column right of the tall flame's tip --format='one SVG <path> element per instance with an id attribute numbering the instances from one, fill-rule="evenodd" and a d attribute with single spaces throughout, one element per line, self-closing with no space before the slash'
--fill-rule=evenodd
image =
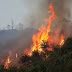
<path id="1" fill-rule="evenodd" d="M 59 34 L 64 34 L 65 37 L 71 35 L 71 0 L 53 0 L 53 7 L 57 19 L 52 24 L 52 31 L 58 29 Z"/>

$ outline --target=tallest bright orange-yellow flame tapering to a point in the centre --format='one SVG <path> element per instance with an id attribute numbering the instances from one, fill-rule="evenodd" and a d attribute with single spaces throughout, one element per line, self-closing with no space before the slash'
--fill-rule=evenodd
<path id="1" fill-rule="evenodd" d="M 34 34 L 33 37 L 32 37 L 32 40 L 33 40 L 33 47 L 31 49 L 31 53 L 33 51 L 36 51 L 38 50 L 38 52 L 42 52 L 42 48 L 41 48 L 41 43 L 42 41 L 49 41 L 49 44 L 50 43 L 53 43 L 53 41 L 51 40 L 50 36 L 49 36 L 49 32 L 50 32 L 50 25 L 52 23 L 52 20 L 54 18 L 56 18 L 56 15 L 54 13 L 54 9 L 53 9 L 53 5 L 52 3 L 49 5 L 49 8 L 50 10 L 47 11 L 47 13 L 51 13 L 52 15 L 50 15 L 49 18 L 45 19 L 46 22 L 48 22 L 48 25 L 47 25 L 47 28 L 45 29 L 45 26 L 41 26 L 39 28 L 39 32 L 37 34 Z"/>

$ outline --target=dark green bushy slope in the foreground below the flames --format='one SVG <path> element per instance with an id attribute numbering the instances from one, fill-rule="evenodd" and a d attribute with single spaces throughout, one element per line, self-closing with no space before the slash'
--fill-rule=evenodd
<path id="1" fill-rule="evenodd" d="M 34 52 L 31 57 L 22 56 L 20 68 L 10 67 L 4 69 L 1 65 L 1 72 L 72 72 L 72 37 L 69 37 L 60 48 L 54 47 L 54 51 L 48 52 L 49 57 L 43 57 Z M 45 58 L 45 59 L 43 59 Z M 19 62 L 19 63 L 20 63 Z"/>

